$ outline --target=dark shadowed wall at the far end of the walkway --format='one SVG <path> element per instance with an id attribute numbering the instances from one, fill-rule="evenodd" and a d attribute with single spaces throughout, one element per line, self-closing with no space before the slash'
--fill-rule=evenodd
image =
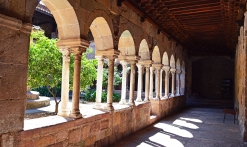
<path id="1" fill-rule="evenodd" d="M 224 91 L 224 79 L 230 79 L 231 94 Z M 205 99 L 233 99 L 234 61 L 223 57 L 207 57 L 192 63 L 192 94 Z"/>

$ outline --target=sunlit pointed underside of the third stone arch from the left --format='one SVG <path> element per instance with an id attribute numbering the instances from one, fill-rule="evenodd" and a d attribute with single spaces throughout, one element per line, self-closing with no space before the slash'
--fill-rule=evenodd
<path id="1" fill-rule="evenodd" d="M 125 30 L 118 42 L 118 49 L 122 56 L 135 56 L 135 43 L 129 30 Z"/>

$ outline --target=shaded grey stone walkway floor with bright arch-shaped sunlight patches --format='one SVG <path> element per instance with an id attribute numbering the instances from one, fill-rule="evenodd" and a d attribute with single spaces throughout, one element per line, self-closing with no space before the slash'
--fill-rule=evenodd
<path id="1" fill-rule="evenodd" d="M 222 109 L 188 108 L 166 117 L 112 147 L 241 147 L 238 121 Z"/>

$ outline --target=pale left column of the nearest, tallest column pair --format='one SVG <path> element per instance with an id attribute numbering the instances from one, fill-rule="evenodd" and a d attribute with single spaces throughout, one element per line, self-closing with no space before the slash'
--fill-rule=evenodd
<path id="1" fill-rule="evenodd" d="M 62 68 L 62 87 L 61 87 L 61 103 L 58 115 L 69 116 L 69 65 L 70 65 L 70 51 L 68 48 L 61 48 L 59 50 L 63 54 L 63 68 Z"/>

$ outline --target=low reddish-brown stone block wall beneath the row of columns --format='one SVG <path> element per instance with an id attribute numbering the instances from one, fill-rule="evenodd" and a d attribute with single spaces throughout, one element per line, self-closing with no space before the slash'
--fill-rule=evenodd
<path id="1" fill-rule="evenodd" d="M 2 146 L 108 146 L 185 106 L 185 97 L 151 101 L 65 123 L 2 135 Z M 155 117 L 151 117 L 154 115 Z M 11 141 L 12 140 L 12 141 Z M 12 144 L 10 144 L 12 142 Z"/>

